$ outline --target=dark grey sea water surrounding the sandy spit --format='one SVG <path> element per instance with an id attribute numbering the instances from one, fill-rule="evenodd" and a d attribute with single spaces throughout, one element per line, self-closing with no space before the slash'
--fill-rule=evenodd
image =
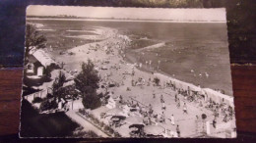
<path id="1" fill-rule="evenodd" d="M 72 38 L 61 40 L 64 35 L 70 35 L 68 29 L 92 29 L 104 26 L 118 29 L 128 35 L 132 46 L 127 48 L 127 57 L 131 61 L 145 64 L 152 61 L 151 68 L 169 74 L 177 79 L 209 87 L 222 89 L 232 96 L 229 52 L 226 24 L 202 23 L 147 23 L 147 22 L 89 22 L 89 21 L 28 21 L 44 24 L 42 31 L 49 42 L 58 42 L 58 49 L 74 47 Z M 72 35 L 83 34 L 81 32 Z M 75 41 L 77 46 L 93 41 Z M 151 50 L 137 49 L 164 42 L 165 45 Z M 69 45 L 69 46 L 67 46 Z M 160 64 L 159 64 L 160 61 Z M 159 70 L 158 70 L 159 67 Z"/>

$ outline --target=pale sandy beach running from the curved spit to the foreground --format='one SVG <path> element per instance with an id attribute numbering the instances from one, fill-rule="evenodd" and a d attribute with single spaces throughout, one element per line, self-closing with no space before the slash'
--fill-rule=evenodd
<path id="1" fill-rule="evenodd" d="M 156 74 L 151 71 L 143 70 L 143 67 L 135 66 L 132 63 L 124 60 L 125 53 L 123 50 L 129 44 L 130 39 L 118 33 L 116 29 L 97 27 L 98 35 L 94 38 L 104 39 L 99 42 L 85 44 L 74 47 L 67 53 L 52 57 L 58 63 L 64 63 L 65 71 L 80 71 L 81 63 L 92 60 L 96 66 L 99 76 L 101 77 L 100 85 L 106 85 L 109 82 L 116 83 L 115 87 L 109 87 L 107 91 L 111 97 L 117 98 L 120 95 L 125 101 L 138 102 L 145 107 L 152 105 L 154 112 L 162 114 L 160 96 L 166 101 L 165 113 L 166 122 L 160 123 L 169 130 L 175 130 L 175 125 L 171 125 L 168 119 L 174 115 L 176 124 L 180 125 L 181 136 L 189 137 L 196 134 L 195 119 L 196 116 L 206 114 L 209 120 L 214 119 L 213 112 L 199 106 L 199 103 L 189 103 L 182 96 L 181 105 L 187 104 L 188 115 L 182 114 L 182 106 L 177 109 L 174 101 L 176 91 L 171 88 L 164 88 L 164 82 L 160 79 L 160 86 L 155 86 L 151 81 L 156 77 Z M 133 74 L 134 73 L 134 74 Z M 132 86 L 133 81 L 142 79 L 140 84 Z M 99 88 L 98 93 L 104 92 L 105 88 Z M 155 97 L 153 97 L 155 94 Z M 203 103 L 204 105 L 206 103 Z M 219 121 L 222 121 L 220 118 Z M 230 122 L 234 126 L 234 120 Z M 189 128 L 189 129 L 187 129 Z"/>

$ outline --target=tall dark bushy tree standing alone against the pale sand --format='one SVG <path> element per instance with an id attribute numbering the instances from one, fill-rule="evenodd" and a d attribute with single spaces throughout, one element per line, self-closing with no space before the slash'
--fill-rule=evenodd
<path id="1" fill-rule="evenodd" d="M 76 88 L 82 93 L 82 103 L 86 109 L 93 110 L 101 105 L 100 98 L 96 94 L 99 77 L 91 60 L 88 60 L 87 63 L 82 63 L 82 71 L 80 71 L 74 81 Z"/>

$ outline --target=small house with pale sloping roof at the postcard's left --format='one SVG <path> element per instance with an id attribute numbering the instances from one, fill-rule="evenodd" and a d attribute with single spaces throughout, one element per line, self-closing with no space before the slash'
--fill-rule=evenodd
<path id="1" fill-rule="evenodd" d="M 28 75 L 36 75 L 41 77 L 45 74 L 46 69 L 59 68 L 57 63 L 53 61 L 43 50 L 33 50 L 29 55 L 29 63 L 26 66 Z"/>

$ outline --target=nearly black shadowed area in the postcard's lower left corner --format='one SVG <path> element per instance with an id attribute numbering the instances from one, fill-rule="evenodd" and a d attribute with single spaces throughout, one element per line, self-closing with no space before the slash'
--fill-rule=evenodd
<path id="1" fill-rule="evenodd" d="M 20 130 L 22 137 L 71 136 L 79 126 L 79 124 L 69 119 L 65 113 L 38 114 L 27 100 L 22 101 L 22 113 Z M 21 142 L 21 140 L 18 142 Z"/>

